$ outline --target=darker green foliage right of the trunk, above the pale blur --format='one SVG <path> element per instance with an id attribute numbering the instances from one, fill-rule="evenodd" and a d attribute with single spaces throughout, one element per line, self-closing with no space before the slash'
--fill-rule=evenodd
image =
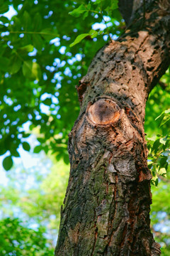
<path id="1" fill-rule="evenodd" d="M 154 87 L 146 106 L 145 132 L 147 133 L 148 166 L 152 172 L 152 184 L 157 186 L 160 176 L 166 177 L 170 164 L 170 74 L 161 79 L 166 87 Z M 160 82 L 161 83 L 161 82 Z M 166 90 L 165 90 L 166 89 Z M 162 113 L 160 114 L 160 111 Z M 159 114 L 159 116 L 158 116 Z"/>

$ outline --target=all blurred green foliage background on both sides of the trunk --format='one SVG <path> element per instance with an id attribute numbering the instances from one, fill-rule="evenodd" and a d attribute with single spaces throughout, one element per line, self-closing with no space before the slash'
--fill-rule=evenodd
<path id="1" fill-rule="evenodd" d="M 125 23 L 115 0 L 1 0 L 0 13 L 9 6 L 15 15 L 0 16 L 0 155 L 6 171 L 21 147 L 40 161 L 50 157 L 52 168 L 45 175 L 21 166 L 18 172 L 17 165 L 8 172 L 8 186 L 0 188 L 1 255 L 51 255 L 69 175 L 68 133 L 79 114 L 75 86 L 96 51 L 118 38 Z M 152 187 L 152 229 L 165 256 L 170 250 L 169 70 L 160 85 L 149 95 L 145 132 L 152 183 L 161 181 Z M 37 139 L 34 149 L 31 134 Z M 26 188 L 29 178 L 33 184 Z"/>

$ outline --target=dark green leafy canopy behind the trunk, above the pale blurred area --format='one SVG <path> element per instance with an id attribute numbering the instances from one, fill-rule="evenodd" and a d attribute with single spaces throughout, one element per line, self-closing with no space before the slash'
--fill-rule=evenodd
<path id="1" fill-rule="evenodd" d="M 99 2 L 97 1 L 97 4 L 100 4 Z M 56 1 L 4 1 L 4 4 L 1 4 L 1 13 L 8 11 L 8 4 L 13 4 L 17 13 L 11 19 L 0 17 L 3 49 L 0 58 L 0 114 L 3 121 L 0 124 L 0 151 L 1 154 L 6 153 L 4 168 L 11 168 L 13 157 L 19 156 L 17 150 L 20 144 L 23 149 L 30 150 L 26 137 L 29 137 L 31 132 L 26 134 L 23 124 L 29 124 L 30 130 L 37 126 L 40 129 L 40 145 L 35 147 L 35 152 L 38 153 L 41 149 L 46 153 L 50 151 L 57 159 L 64 157 L 64 161 L 68 162 L 67 134 L 79 112 L 74 85 L 79 83 L 81 75 L 86 74 L 96 50 L 101 48 L 106 40 L 110 40 L 108 34 L 114 39 L 123 31 L 122 17 L 118 9 L 115 9 L 115 3 L 112 8 L 107 9 L 107 1 L 103 6 L 103 3 L 100 6 L 95 5 L 94 1 L 89 2 L 91 6 L 86 1 L 77 4 L 75 1 L 57 1 L 57 4 Z M 80 4 L 86 8 L 80 8 Z M 74 16 L 68 16 L 68 13 L 76 8 L 79 8 L 79 11 L 74 12 Z M 79 18 L 80 14 L 83 18 Z M 108 14 L 111 17 L 108 17 Z M 91 31 L 91 26 L 95 29 L 99 26 L 94 26 L 94 23 L 101 23 L 100 28 Z M 70 43 L 75 43 L 81 33 L 86 36 L 84 40 L 70 48 Z M 50 41 L 53 38 L 55 40 Z M 165 83 L 160 85 L 168 91 L 166 83 L 169 82 L 169 72 L 162 82 Z M 157 128 L 159 119 L 154 122 L 154 118 L 169 105 L 169 95 L 166 91 L 161 87 L 154 88 L 147 106 L 145 131 L 152 137 L 152 123 L 154 134 L 162 135 L 154 138 L 157 141 L 154 146 L 159 144 L 160 151 L 150 152 L 159 166 L 159 169 L 154 169 L 153 183 L 157 183 L 156 173 L 166 167 L 166 158 L 164 154 L 159 153 L 164 145 L 160 140 L 166 137 L 168 124 L 164 124 L 160 129 Z M 68 110 L 72 110 L 72 114 Z M 161 161 L 162 159 L 164 161 Z M 167 208 L 164 209 L 168 211 Z M 160 234 L 157 235 L 160 238 Z M 167 243 L 166 236 L 164 241 Z"/>

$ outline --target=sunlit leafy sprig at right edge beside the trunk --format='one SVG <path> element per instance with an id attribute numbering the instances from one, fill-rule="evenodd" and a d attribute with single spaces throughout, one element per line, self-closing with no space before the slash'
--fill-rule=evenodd
<path id="1" fill-rule="evenodd" d="M 164 125 L 170 120 L 170 109 L 165 110 L 156 119 L 161 118 L 160 126 Z M 148 167 L 152 172 L 152 184 L 157 186 L 158 178 L 166 177 L 167 171 L 169 171 L 170 164 L 170 134 L 162 136 L 160 134 L 155 135 L 152 138 L 147 138 L 148 154 Z"/>

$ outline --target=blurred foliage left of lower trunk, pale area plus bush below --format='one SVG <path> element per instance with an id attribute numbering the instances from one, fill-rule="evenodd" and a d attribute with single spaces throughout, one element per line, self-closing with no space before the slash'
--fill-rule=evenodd
<path id="1" fill-rule="evenodd" d="M 8 186 L 0 186 L 0 240 L 6 241 L 1 242 L 1 250 L 6 253 L 1 254 L 0 251 L 0 255 L 8 255 L 11 247 L 16 250 L 13 255 L 54 254 L 69 166 L 63 161 L 56 163 L 55 158 L 52 158 L 53 165 L 50 170 L 49 159 L 45 159 L 42 152 L 39 161 L 43 161 L 43 165 L 47 166 L 45 172 L 42 173 L 41 167 L 23 170 L 21 166 L 16 165 L 13 171 L 6 174 Z M 10 240 L 11 233 L 14 242 Z M 6 236 L 10 242 L 6 240 Z M 24 246 L 21 246 L 22 241 L 25 241 Z M 17 249 L 13 243 L 17 245 Z M 33 249 L 30 250 L 30 247 Z"/>

